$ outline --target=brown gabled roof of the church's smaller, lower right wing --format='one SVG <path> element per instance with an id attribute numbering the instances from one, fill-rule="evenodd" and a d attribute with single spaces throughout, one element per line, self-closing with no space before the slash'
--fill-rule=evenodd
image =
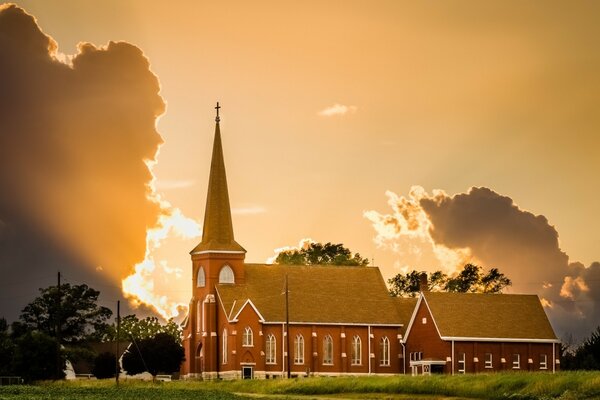
<path id="1" fill-rule="evenodd" d="M 556 340 L 537 295 L 426 292 L 422 296 L 444 340 Z"/>

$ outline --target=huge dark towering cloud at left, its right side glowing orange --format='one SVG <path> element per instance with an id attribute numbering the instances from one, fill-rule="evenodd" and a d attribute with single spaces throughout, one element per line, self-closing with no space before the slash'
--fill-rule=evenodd
<path id="1" fill-rule="evenodd" d="M 128 43 L 81 44 L 70 62 L 56 50 L 32 16 L 0 6 L 0 316 L 31 300 L 10 282 L 30 275 L 35 294 L 57 269 L 116 295 L 161 212 L 146 162 L 164 103 L 148 60 Z"/>

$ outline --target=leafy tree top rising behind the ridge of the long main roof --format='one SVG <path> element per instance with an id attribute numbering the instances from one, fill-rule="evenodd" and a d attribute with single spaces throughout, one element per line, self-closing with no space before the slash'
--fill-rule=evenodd
<path id="1" fill-rule="evenodd" d="M 277 255 L 276 264 L 282 265 L 354 265 L 366 266 L 369 259 L 352 252 L 341 243 L 310 243 L 299 250 L 284 250 Z"/>

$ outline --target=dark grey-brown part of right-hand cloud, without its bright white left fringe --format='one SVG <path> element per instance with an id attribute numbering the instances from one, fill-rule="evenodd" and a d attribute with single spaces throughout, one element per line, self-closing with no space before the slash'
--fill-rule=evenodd
<path id="1" fill-rule="evenodd" d="M 539 294 L 557 334 L 586 335 L 600 321 L 600 264 L 570 263 L 544 216 L 487 188 L 423 197 L 420 205 L 435 243 L 469 248 L 484 266 L 509 276 L 514 292 Z"/>

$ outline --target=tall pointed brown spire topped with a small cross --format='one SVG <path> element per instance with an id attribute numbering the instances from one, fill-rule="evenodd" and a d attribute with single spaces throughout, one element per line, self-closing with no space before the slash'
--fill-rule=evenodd
<path id="1" fill-rule="evenodd" d="M 225 175 L 225 161 L 223 159 L 223 146 L 221 144 L 221 129 L 219 122 L 219 103 L 215 109 L 215 139 L 213 142 L 212 161 L 210 164 L 210 177 L 208 193 L 206 195 L 206 210 L 204 212 L 204 228 L 202 242 L 191 251 L 191 254 L 206 252 L 245 253 L 246 250 L 233 238 L 233 224 L 231 222 L 231 208 L 229 206 L 229 192 L 227 190 L 227 177 Z"/>

